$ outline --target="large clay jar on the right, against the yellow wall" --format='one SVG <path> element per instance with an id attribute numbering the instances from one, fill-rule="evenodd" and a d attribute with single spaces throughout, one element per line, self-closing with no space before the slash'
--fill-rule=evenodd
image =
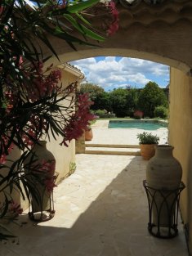
<path id="1" fill-rule="evenodd" d="M 152 213 L 154 225 L 172 226 L 176 194 L 172 191 L 181 185 L 181 164 L 172 155 L 173 146 L 155 146 L 155 155 L 147 164 L 146 182 L 152 187 Z M 155 192 L 155 190 L 159 190 Z"/>

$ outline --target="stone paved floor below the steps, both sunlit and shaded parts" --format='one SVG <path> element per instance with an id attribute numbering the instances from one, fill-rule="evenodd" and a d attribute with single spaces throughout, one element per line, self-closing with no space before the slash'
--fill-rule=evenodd
<path id="1" fill-rule="evenodd" d="M 82 154 L 76 156 L 76 164 L 75 173 L 55 189 L 55 217 L 33 223 L 26 211 L 17 222 L 25 223 L 22 227 L 8 226 L 18 235 L 19 245 L 2 243 L 1 256 L 188 255 L 181 220 L 179 236 L 173 239 L 158 239 L 147 231 L 142 186 L 147 161 L 139 156 Z"/>

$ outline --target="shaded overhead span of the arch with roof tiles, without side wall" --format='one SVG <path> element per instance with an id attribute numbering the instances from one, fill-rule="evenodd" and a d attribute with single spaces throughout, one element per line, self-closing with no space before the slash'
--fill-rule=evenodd
<path id="1" fill-rule="evenodd" d="M 185 74 L 190 74 L 192 2 L 190 0 L 157 1 L 162 2 L 157 5 L 149 5 L 146 2 L 150 1 L 146 0 L 135 2 L 140 3 L 127 8 L 118 2 L 120 20 L 118 32 L 106 38 L 104 43 L 97 44 L 99 47 L 77 45 L 76 52 L 63 40 L 50 38 L 60 61 L 74 61 L 90 56 L 130 56 L 170 65 Z M 107 15 L 101 16 L 101 21 L 97 16 L 92 17 L 91 20 L 93 27 L 101 33 L 103 33 L 102 20 L 105 19 Z M 48 51 L 44 53 L 50 54 Z M 49 62 L 54 65 L 59 63 L 56 58 L 51 58 Z"/>

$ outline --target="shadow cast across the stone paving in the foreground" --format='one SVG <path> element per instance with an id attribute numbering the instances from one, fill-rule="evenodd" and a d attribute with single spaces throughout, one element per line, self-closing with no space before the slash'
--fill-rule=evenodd
<path id="1" fill-rule="evenodd" d="M 107 156 L 96 157 L 97 161 L 110 160 Z M 86 159 L 86 164 L 89 161 L 91 164 L 92 159 Z M 20 222 L 28 223 L 23 227 L 14 225 L 14 232 L 20 237 L 20 245 L 8 242 L 7 245 L 1 246 L 0 255 L 187 255 L 184 236 L 177 236 L 172 240 L 161 240 L 150 236 L 147 231 L 148 204 L 142 186 L 146 163 L 141 157 L 132 157 L 130 164 L 125 164 L 118 176 L 114 177 L 109 186 L 105 187 L 105 190 L 78 217 L 71 228 L 62 227 L 65 207 L 58 214 L 56 212 L 53 220 L 44 223 L 47 226 L 33 224 L 29 222 L 26 215 L 22 216 Z M 102 170 L 100 174 L 102 175 Z M 101 175 L 100 181 L 102 181 Z M 91 175 L 88 177 L 87 171 L 87 182 L 89 180 L 91 182 L 91 178 Z"/>

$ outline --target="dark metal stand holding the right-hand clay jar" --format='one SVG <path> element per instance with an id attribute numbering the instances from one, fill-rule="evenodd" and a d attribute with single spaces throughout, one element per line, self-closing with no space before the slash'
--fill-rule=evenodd
<path id="1" fill-rule="evenodd" d="M 175 237 L 178 234 L 179 200 L 181 191 L 185 188 L 184 183 L 181 182 L 180 187 L 174 190 L 155 189 L 148 186 L 146 180 L 143 181 L 143 186 L 149 204 L 150 234 L 159 238 Z"/>

